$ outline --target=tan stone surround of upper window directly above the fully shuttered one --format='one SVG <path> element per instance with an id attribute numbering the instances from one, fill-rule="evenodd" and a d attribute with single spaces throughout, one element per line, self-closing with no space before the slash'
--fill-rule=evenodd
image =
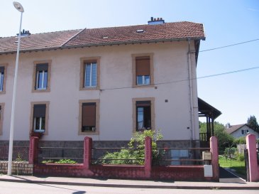
<path id="1" fill-rule="evenodd" d="M 101 57 L 99 57 L 99 56 L 80 58 L 79 90 L 99 90 L 100 89 L 100 67 L 101 67 L 100 60 L 101 60 Z M 97 86 L 96 87 L 84 87 L 84 70 L 85 70 L 84 65 L 87 62 L 92 62 L 92 61 L 97 62 Z"/>

